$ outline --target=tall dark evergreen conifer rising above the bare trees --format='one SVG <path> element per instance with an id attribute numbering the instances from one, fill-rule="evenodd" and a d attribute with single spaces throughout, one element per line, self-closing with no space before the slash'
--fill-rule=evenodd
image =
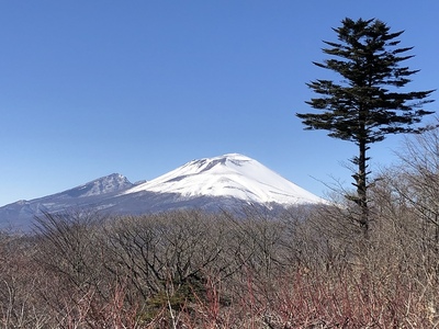
<path id="1" fill-rule="evenodd" d="M 318 98 L 306 103 L 323 113 L 296 115 L 303 120 L 305 129 L 329 131 L 328 136 L 353 141 L 358 146 L 358 156 L 350 160 L 357 168 L 352 174 L 357 194 L 347 197 L 360 207 L 356 220 L 367 236 L 370 224 L 369 145 L 383 140 L 386 134 L 426 129 L 416 124 L 424 115 L 434 113 L 423 109 L 432 102 L 427 98 L 434 90 L 398 92 L 418 71 L 401 66 L 413 57 L 405 55 L 413 47 L 397 47 L 399 41 L 396 38 L 404 31 L 391 33 L 385 23 L 375 19 L 345 19 L 341 23 L 341 27 L 333 29 L 338 42 L 324 42 L 328 47 L 323 52 L 333 57 L 314 64 L 339 73 L 342 80 L 338 83 L 330 80 L 307 83 Z"/>

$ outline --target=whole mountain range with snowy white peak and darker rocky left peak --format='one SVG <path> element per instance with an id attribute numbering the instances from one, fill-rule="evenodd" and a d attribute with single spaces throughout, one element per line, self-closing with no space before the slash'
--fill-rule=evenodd
<path id="1" fill-rule="evenodd" d="M 258 161 L 238 154 L 190 161 L 151 181 L 113 173 L 53 195 L 0 207 L 0 228 L 29 229 L 35 216 L 69 211 L 109 215 L 244 205 L 288 207 L 325 202 Z"/>

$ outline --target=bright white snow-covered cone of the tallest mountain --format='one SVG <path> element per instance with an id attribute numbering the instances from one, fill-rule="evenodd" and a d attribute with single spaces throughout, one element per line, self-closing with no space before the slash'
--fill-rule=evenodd
<path id="1" fill-rule="evenodd" d="M 180 193 L 185 197 L 225 196 L 284 205 L 324 202 L 258 161 L 238 154 L 190 161 L 122 194 L 140 191 Z"/>

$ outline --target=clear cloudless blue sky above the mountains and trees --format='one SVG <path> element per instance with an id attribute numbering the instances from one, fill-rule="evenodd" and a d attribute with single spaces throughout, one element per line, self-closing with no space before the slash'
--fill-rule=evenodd
<path id="1" fill-rule="evenodd" d="M 227 152 L 318 195 L 331 177 L 349 184 L 354 146 L 294 115 L 327 76 L 312 64 L 322 41 L 346 16 L 380 19 L 415 46 L 408 87 L 436 89 L 438 13 L 437 0 L 0 1 L 0 205 Z M 372 146 L 372 169 L 399 140 Z"/>

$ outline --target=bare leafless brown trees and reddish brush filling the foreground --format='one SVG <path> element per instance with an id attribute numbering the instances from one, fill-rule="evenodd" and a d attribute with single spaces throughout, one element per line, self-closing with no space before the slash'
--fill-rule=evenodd
<path id="1" fill-rule="evenodd" d="M 344 197 L 248 208 L 46 215 L 0 237 L 2 328 L 434 328 L 439 138 L 375 177 L 371 229 Z"/>

